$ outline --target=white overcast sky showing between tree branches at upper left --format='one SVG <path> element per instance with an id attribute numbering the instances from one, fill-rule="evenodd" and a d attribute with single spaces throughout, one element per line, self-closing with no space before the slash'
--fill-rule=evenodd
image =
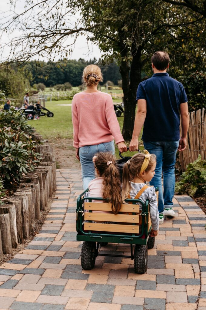
<path id="1" fill-rule="evenodd" d="M 25 0 L 17 0 L 17 5 L 16 5 L 16 12 L 18 13 L 24 11 L 24 6 L 25 6 Z M 0 7 L 0 19 L 2 21 L 3 16 L 8 15 L 8 11 L 10 9 L 10 3 L 9 0 L 1 0 L 1 7 Z M 13 36 L 20 36 L 20 31 L 16 29 L 16 31 L 13 33 Z M 11 38 L 8 37 L 7 34 L 5 34 L 2 37 L 1 43 L 7 43 L 9 42 L 9 39 Z M 69 40 L 69 39 L 68 39 Z M 8 53 L 10 52 L 9 48 L 5 48 L 2 54 L 2 60 L 6 59 L 8 57 Z M 79 58 L 83 58 L 85 60 L 93 59 L 96 57 L 96 59 L 99 59 L 101 57 L 101 52 L 99 48 L 92 44 L 91 42 L 87 42 L 86 36 L 81 36 L 79 35 L 76 42 L 75 46 L 73 47 L 73 52 L 70 56 L 68 56 L 68 59 L 76 59 L 78 60 Z M 37 59 L 37 57 L 36 57 Z M 56 60 L 59 59 L 58 56 L 55 58 Z M 47 58 L 44 57 L 44 60 L 46 61 Z"/>

